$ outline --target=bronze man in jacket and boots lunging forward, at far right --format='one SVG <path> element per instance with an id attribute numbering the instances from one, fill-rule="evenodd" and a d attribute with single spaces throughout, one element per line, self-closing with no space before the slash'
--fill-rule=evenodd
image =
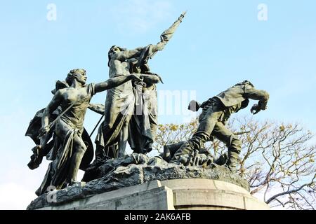
<path id="1" fill-rule="evenodd" d="M 225 127 L 225 123 L 232 113 L 237 113 L 239 110 L 246 108 L 249 104 L 249 99 L 259 101 L 258 104 L 254 104 L 251 108 L 251 113 L 256 114 L 261 110 L 267 109 L 269 94 L 264 90 L 256 90 L 252 83 L 245 80 L 210 98 L 201 105 L 191 102 L 189 105 L 190 110 L 198 111 L 199 108 L 203 109 L 201 116 L 199 116 L 199 127 L 193 137 L 185 142 L 175 153 L 171 162 L 187 165 L 187 162 L 189 162 L 188 155 L 192 154 L 192 151 L 199 150 L 206 141 L 216 137 L 228 147 L 228 162 L 226 162 L 226 166 L 232 172 L 235 172 L 242 142 Z"/>

